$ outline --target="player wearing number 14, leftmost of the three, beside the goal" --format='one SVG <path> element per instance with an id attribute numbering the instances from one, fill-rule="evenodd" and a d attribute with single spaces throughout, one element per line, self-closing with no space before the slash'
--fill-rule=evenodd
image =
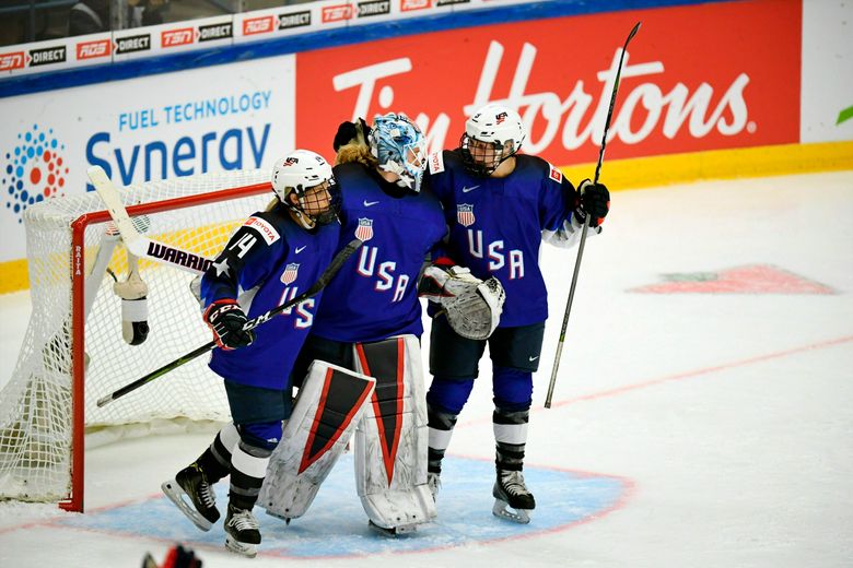
<path id="1" fill-rule="evenodd" d="M 211 485 L 231 474 L 225 545 L 245 556 L 255 556 L 260 543 L 252 510 L 281 438 L 282 419 L 290 414 L 290 371 L 320 294 L 255 330 L 243 326 L 308 288 L 338 244 L 340 192 L 322 156 L 297 150 L 278 161 L 272 190 L 276 198 L 267 210 L 243 223 L 201 280 L 203 320 L 219 345 L 210 368 L 225 381 L 233 423 L 198 460 L 162 485 L 208 531 L 220 517 Z"/>

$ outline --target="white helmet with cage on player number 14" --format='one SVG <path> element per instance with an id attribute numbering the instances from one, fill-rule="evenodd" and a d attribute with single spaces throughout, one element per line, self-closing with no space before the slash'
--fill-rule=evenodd
<path id="1" fill-rule="evenodd" d="M 340 211 L 340 191 L 331 166 L 315 152 L 295 150 L 276 162 L 271 182 L 279 201 L 294 211 L 306 228 L 331 223 Z M 328 192 L 328 208 L 323 204 L 325 192 L 313 191 L 315 188 Z M 290 193 L 296 194 L 299 205 L 288 199 Z"/>

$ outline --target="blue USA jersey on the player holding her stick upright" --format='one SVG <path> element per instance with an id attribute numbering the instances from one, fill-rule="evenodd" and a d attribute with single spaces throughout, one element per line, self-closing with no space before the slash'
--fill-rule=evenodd
<path id="1" fill-rule="evenodd" d="M 506 291 L 499 327 L 545 321 L 539 246 L 544 234 L 564 230 L 575 209 L 574 187 L 548 162 L 527 155 L 516 155 L 504 178 L 475 177 L 457 151 L 430 156 L 429 180 L 451 227 L 451 258 L 479 279 L 496 277 Z"/>

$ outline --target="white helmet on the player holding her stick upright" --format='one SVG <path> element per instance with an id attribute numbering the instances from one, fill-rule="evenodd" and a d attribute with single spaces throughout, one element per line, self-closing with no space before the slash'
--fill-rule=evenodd
<path id="1" fill-rule="evenodd" d="M 527 133 L 517 111 L 489 103 L 465 122 L 459 141 L 464 164 L 471 174 L 489 176 L 522 149 L 525 138 Z"/>

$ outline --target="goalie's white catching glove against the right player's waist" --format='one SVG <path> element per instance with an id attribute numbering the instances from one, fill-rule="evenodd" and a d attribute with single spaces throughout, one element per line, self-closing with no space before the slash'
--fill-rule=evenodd
<path id="1" fill-rule="evenodd" d="M 494 276 L 482 281 L 463 267 L 432 264 L 418 284 L 418 295 L 442 307 L 453 331 L 486 340 L 501 319 L 506 294 Z"/>

